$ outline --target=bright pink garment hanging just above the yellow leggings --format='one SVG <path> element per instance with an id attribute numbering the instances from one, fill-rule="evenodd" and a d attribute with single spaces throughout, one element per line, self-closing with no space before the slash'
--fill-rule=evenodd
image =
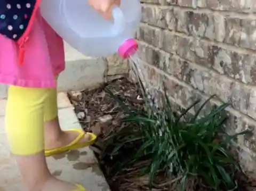
<path id="1" fill-rule="evenodd" d="M 0 35 L 0 83 L 22 87 L 54 88 L 55 76 L 65 69 L 63 40 L 35 13 L 26 42 L 22 64 L 18 44 Z"/>

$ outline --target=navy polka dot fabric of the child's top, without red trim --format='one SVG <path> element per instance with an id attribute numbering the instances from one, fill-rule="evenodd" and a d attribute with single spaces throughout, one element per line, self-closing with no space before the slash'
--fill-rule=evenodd
<path id="1" fill-rule="evenodd" d="M 36 0 L 1 0 L 0 34 L 18 41 L 33 18 Z"/>

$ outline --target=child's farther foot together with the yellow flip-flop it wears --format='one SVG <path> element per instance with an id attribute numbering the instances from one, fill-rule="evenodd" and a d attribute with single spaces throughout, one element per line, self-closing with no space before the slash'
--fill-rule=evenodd
<path id="1" fill-rule="evenodd" d="M 62 131 L 55 140 L 45 140 L 45 155 L 50 156 L 89 146 L 94 143 L 96 136 L 86 133 L 82 129 Z"/>

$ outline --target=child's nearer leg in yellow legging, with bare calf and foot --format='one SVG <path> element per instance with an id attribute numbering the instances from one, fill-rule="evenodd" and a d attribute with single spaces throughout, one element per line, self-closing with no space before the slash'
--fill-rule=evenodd
<path id="1" fill-rule="evenodd" d="M 75 190 L 53 178 L 44 157 L 44 104 L 49 89 L 11 86 L 6 106 L 6 133 L 29 191 Z"/>

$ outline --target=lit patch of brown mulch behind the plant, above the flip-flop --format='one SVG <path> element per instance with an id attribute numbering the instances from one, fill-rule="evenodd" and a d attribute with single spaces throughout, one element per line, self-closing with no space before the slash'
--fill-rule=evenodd
<path id="1" fill-rule="evenodd" d="M 105 92 L 108 88 L 129 107 L 141 107 L 143 99 L 138 84 L 125 78 L 114 80 L 98 89 L 68 93 L 77 118 L 84 130 L 106 137 L 106 133 L 120 126 L 124 112 L 118 103 Z M 100 129 L 99 129 L 100 128 Z"/>

